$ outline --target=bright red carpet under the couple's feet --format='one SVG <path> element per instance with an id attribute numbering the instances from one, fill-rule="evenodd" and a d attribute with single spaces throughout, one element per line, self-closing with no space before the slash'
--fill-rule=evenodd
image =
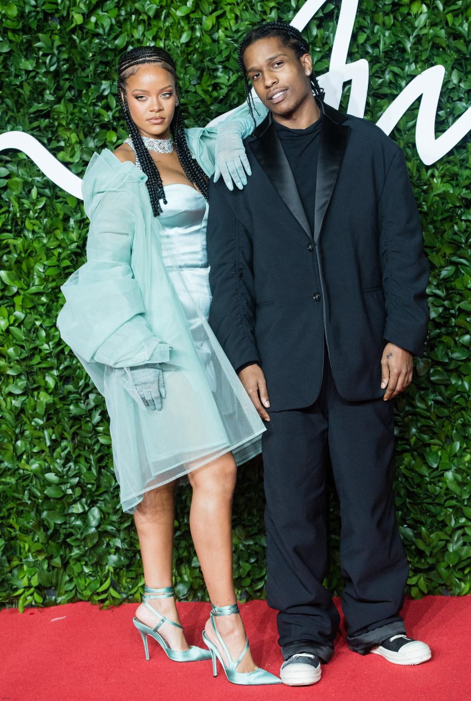
<path id="1" fill-rule="evenodd" d="M 278 674 L 275 612 L 264 601 L 242 607 L 259 665 Z M 0 611 L 1 701 L 468 701 L 471 698 L 471 596 L 407 601 L 404 616 L 413 637 L 428 642 L 433 657 L 399 667 L 350 652 L 345 632 L 315 686 L 235 686 L 211 662 L 170 662 L 149 639 L 151 660 L 131 618 L 135 604 L 100 611 L 86 603 Z M 200 644 L 209 604 L 179 604 L 190 643 Z M 218 667 L 220 670 L 220 667 Z"/>

